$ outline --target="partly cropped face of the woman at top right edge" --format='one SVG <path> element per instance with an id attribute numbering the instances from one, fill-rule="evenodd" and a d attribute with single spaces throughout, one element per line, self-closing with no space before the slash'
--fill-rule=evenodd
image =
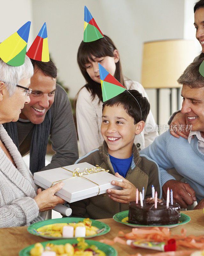
<path id="1" fill-rule="evenodd" d="M 194 26 L 196 28 L 196 38 L 202 46 L 204 53 L 204 7 L 197 9 L 194 13 Z"/>

